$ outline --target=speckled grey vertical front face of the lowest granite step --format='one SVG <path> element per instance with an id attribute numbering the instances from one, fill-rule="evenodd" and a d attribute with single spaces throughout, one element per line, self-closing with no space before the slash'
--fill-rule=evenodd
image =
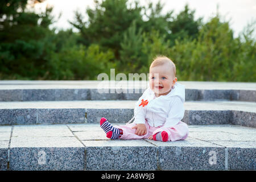
<path id="1" fill-rule="evenodd" d="M 256 165 L 251 163 L 251 161 L 254 160 L 252 155 L 254 155 L 255 152 L 256 148 L 222 146 L 164 147 L 154 146 L 154 144 L 152 144 L 152 146 L 130 147 L 14 147 L 8 148 L 7 163 L 5 160 L 2 166 L 6 166 L 5 169 L 10 171 L 256 170 Z M 105 155 L 104 160 L 102 160 L 102 156 L 97 156 L 97 154 L 101 153 Z M 237 154 L 239 154 L 239 156 Z M 76 158 L 74 157 L 75 155 Z M 24 160 L 24 156 L 28 159 Z M 137 160 L 133 160 L 135 157 L 141 159 L 142 162 L 138 163 Z M 59 163 L 59 160 L 61 163 Z M 125 164 L 121 161 L 125 161 Z M 116 162 L 117 164 L 114 164 Z M 68 166 L 69 164 L 72 165 Z"/>

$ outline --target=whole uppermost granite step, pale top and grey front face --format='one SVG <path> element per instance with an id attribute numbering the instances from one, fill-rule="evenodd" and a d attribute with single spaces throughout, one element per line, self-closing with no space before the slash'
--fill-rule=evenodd
<path id="1" fill-rule="evenodd" d="M 256 102 L 254 82 L 179 81 L 186 101 Z M 138 100 L 147 81 L 0 81 L 0 101 Z"/>

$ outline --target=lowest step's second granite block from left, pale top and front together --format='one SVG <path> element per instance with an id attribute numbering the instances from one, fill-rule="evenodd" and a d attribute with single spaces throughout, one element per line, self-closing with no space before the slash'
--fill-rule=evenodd
<path id="1" fill-rule="evenodd" d="M 11 170 L 84 170 L 84 146 L 75 137 L 11 139 Z"/>

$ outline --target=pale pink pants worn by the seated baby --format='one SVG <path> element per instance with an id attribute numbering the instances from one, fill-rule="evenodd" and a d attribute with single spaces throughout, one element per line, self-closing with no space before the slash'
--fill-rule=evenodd
<path id="1" fill-rule="evenodd" d="M 136 129 L 131 129 L 135 125 L 135 123 L 130 123 L 122 126 L 115 126 L 118 129 L 123 130 L 123 135 L 119 139 L 147 139 L 151 135 L 154 135 L 160 131 L 166 131 L 168 133 L 168 141 L 184 140 L 188 137 L 188 125 L 182 121 L 177 123 L 177 125 L 168 128 L 161 128 L 161 126 L 152 127 L 148 125 L 146 121 L 145 125 L 147 128 L 147 133 L 146 135 L 142 136 L 135 134 Z"/>

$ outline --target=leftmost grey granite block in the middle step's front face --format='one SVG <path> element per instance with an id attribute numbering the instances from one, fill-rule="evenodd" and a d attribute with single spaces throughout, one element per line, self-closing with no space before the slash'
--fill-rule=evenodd
<path id="1" fill-rule="evenodd" d="M 36 109 L 0 109 L 0 125 L 35 124 Z"/>

